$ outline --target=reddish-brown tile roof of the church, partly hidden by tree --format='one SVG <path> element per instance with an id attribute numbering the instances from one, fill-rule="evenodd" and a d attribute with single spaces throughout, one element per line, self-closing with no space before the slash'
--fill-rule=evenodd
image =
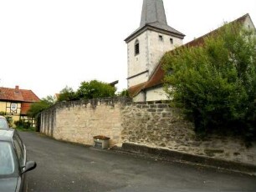
<path id="1" fill-rule="evenodd" d="M 249 14 L 243 15 L 241 18 L 238 18 L 238 19 L 234 20 L 231 23 L 243 23 L 247 17 L 249 17 Z M 217 29 L 213 30 L 212 32 L 203 35 L 200 38 L 196 38 L 196 39 L 192 40 L 191 42 L 182 45 L 179 48 L 202 46 L 204 44 L 205 38 L 210 37 L 210 36 L 218 33 L 219 29 L 220 28 L 217 28 Z M 166 54 L 171 54 L 172 51 L 169 51 Z M 141 84 L 137 84 L 137 85 L 129 88 L 128 91 L 130 93 L 130 96 L 131 97 L 135 97 L 143 89 L 152 88 L 152 87 L 155 87 L 157 85 L 162 84 L 163 83 L 163 79 L 164 79 L 164 75 L 165 75 L 165 73 L 164 73 L 164 71 L 162 69 L 163 64 L 164 64 L 163 59 L 161 59 L 160 63 L 156 67 L 155 72 L 152 73 L 151 78 L 147 82 L 141 83 Z"/>

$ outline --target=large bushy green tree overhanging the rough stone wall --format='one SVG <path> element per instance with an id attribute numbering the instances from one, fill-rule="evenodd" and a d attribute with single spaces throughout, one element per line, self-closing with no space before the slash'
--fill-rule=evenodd
<path id="1" fill-rule="evenodd" d="M 166 93 L 199 134 L 256 137 L 255 33 L 225 24 L 200 47 L 177 48 L 163 58 Z"/>

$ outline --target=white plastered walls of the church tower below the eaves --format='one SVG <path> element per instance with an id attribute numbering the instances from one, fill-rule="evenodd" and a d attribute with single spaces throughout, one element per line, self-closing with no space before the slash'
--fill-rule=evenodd
<path id="1" fill-rule="evenodd" d="M 162 36 L 162 41 L 159 36 Z M 170 38 L 173 39 L 171 43 Z M 140 53 L 135 55 L 136 40 L 140 43 Z M 182 39 L 147 30 L 141 33 L 137 38 L 127 43 L 127 63 L 128 63 L 128 88 L 149 80 L 150 74 L 155 71 L 161 57 L 167 51 L 170 51 L 182 45 Z M 145 72 L 134 78 L 130 78 L 138 73 Z"/>

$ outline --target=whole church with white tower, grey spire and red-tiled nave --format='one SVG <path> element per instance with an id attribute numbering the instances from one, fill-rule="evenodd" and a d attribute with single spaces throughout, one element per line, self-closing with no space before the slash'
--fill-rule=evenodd
<path id="1" fill-rule="evenodd" d="M 233 22 L 243 23 L 245 28 L 255 29 L 248 14 Z M 125 38 L 128 59 L 127 87 L 133 101 L 167 100 L 163 90 L 164 72 L 161 58 L 165 53 L 180 46 L 201 46 L 204 38 L 214 31 L 183 45 L 185 35 L 167 24 L 163 1 L 143 0 L 141 25 Z"/>

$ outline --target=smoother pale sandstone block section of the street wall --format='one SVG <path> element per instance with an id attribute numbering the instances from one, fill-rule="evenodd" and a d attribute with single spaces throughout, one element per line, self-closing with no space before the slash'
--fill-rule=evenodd
<path id="1" fill-rule="evenodd" d="M 110 145 L 121 144 L 121 102 L 112 99 L 56 104 L 42 113 L 41 132 L 79 144 L 94 144 L 93 137 L 110 137 Z"/>

